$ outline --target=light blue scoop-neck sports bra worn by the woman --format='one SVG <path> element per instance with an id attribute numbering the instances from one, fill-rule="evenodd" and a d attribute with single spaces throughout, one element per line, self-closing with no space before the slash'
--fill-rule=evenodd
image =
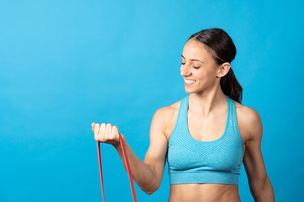
<path id="1" fill-rule="evenodd" d="M 181 101 L 177 121 L 169 138 L 167 161 L 170 185 L 237 185 L 244 156 L 236 122 L 235 102 L 227 96 L 227 122 L 218 140 L 195 140 L 188 131 L 188 97 Z"/>

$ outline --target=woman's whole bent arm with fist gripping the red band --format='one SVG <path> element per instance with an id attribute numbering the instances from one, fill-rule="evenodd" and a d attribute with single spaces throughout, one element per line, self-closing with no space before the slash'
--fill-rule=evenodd
<path id="1" fill-rule="evenodd" d="M 128 155 L 130 169 L 136 184 L 147 194 L 156 191 L 162 181 L 166 155 L 168 150 L 168 140 L 164 134 L 164 120 L 166 117 L 163 113 L 166 110 L 158 109 L 152 118 L 150 128 L 150 146 L 145 155 L 144 161 L 140 160 L 126 142 L 125 137 L 122 139 Z M 94 138 L 96 141 L 112 144 L 121 158 L 123 166 L 126 169 L 121 146 L 119 143 L 118 127 L 111 124 L 92 124 Z"/>

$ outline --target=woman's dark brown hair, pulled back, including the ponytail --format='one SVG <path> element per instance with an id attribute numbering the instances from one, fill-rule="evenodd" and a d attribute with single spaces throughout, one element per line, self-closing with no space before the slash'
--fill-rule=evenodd
<path id="1" fill-rule="evenodd" d="M 236 57 L 236 46 L 231 37 L 222 29 L 202 30 L 190 36 L 189 39 L 195 39 L 209 47 L 209 53 L 219 65 L 224 62 L 231 63 Z M 220 88 L 225 95 L 241 103 L 243 89 L 231 68 L 224 77 L 220 78 Z"/>

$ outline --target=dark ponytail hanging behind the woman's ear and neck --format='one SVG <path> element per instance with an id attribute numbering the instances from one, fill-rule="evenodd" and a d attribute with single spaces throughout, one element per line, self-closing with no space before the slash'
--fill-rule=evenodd
<path id="1" fill-rule="evenodd" d="M 228 95 L 231 99 L 236 102 L 242 102 L 242 91 L 243 88 L 238 83 L 233 70 L 230 68 L 228 74 L 220 78 L 220 88 L 225 95 Z"/>

